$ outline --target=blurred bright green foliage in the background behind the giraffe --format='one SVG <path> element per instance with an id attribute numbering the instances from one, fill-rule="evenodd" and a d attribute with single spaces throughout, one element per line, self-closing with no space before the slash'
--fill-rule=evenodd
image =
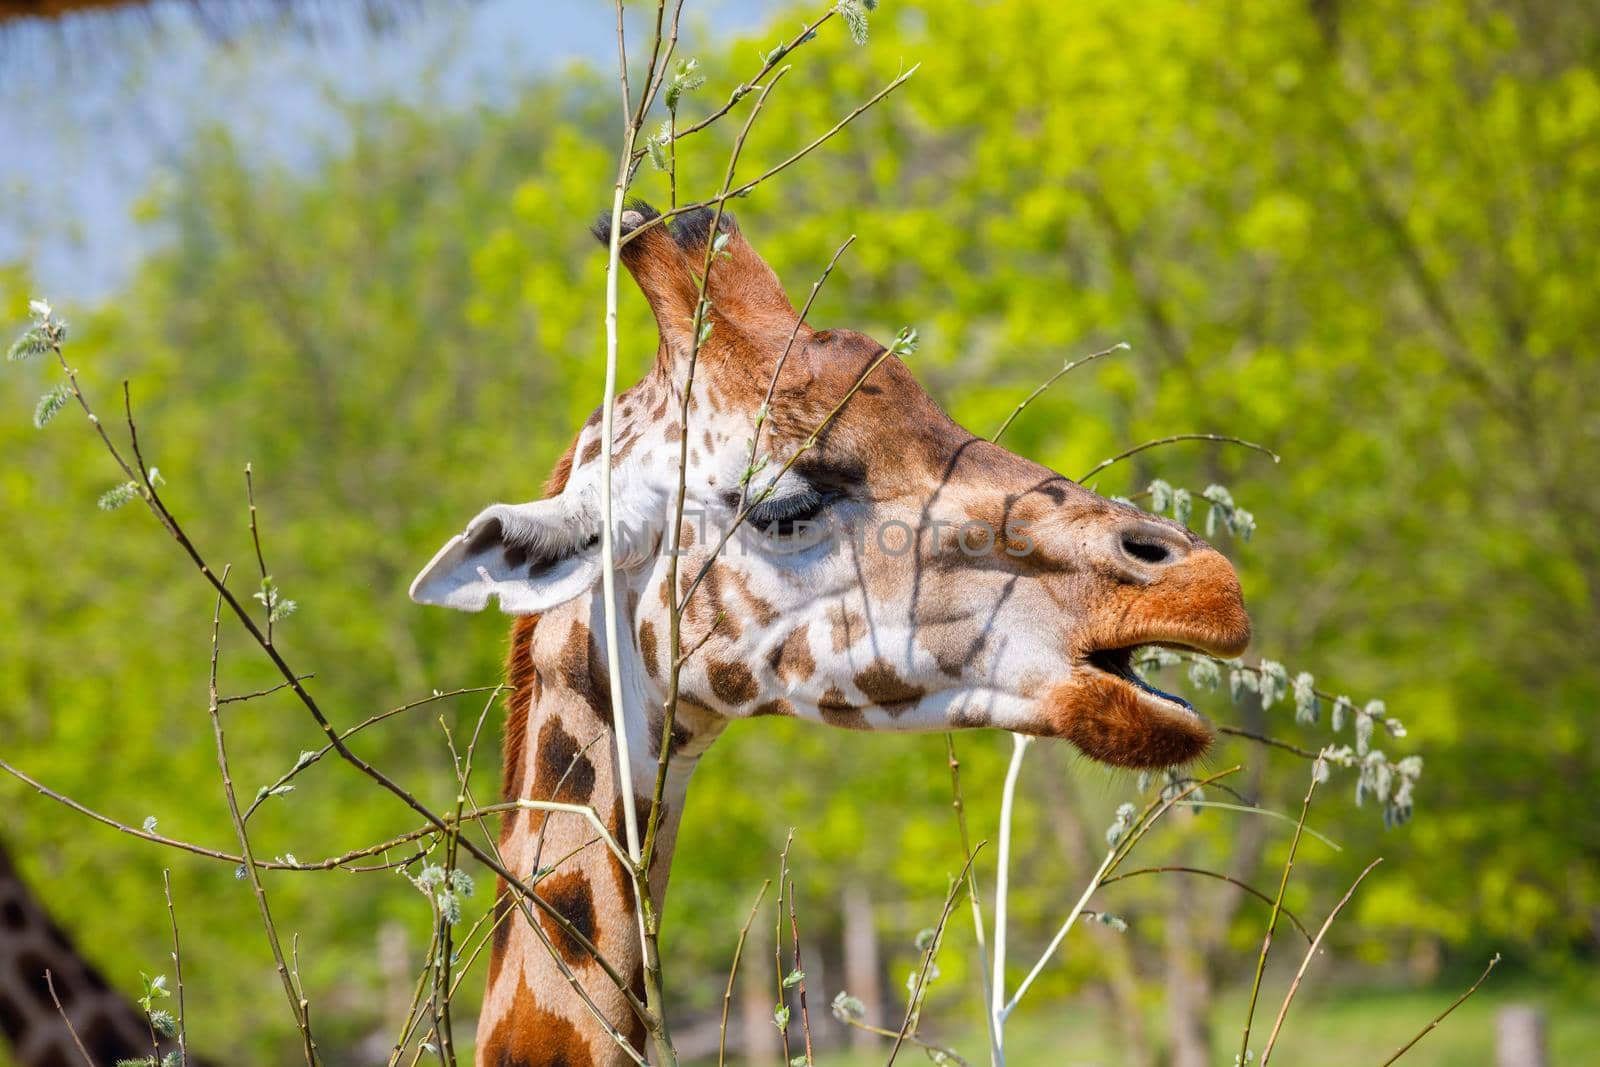
<path id="1" fill-rule="evenodd" d="M 709 83 L 683 115 L 720 102 L 792 22 L 699 54 Z M 866 48 L 830 26 L 794 59 L 744 171 L 917 61 L 910 85 L 734 205 L 790 293 L 856 234 L 811 320 L 880 339 L 917 325 L 923 382 L 984 434 L 1064 360 L 1126 339 L 1131 352 L 1075 371 L 1008 430 L 1011 448 L 1067 475 L 1173 432 L 1280 451 L 1272 466 L 1179 445 L 1098 488 L 1227 485 L 1261 525 L 1248 545 L 1221 536 L 1256 619 L 1253 654 L 1358 701 L 1384 696 L 1411 734 L 1386 744 L 1427 758 L 1418 817 L 1400 830 L 1354 808 L 1350 776 L 1334 779 L 1312 822 L 1346 848 L 1307 856 L 1291 907 L 1320 915 L 1381 853 L 1333 934 L 1339 953 L 1424 977 L 1440 953 L 1491 949 L 1539 981 L 1592 965 L 1600 14 L 1555 0 L 893 3 Z M 86 387 L 110 414 L 131 378 L 166 496 L 218 561 L 251 560 L 242 470 L 254 464 L 267 561 L 299 603 L 280 643 L 346 725 L 498 678 L 504 621 L 414 608 L 405 587 L 464 517 L 531 496 L 598 403 L 603 256 L 586 222 L 606 200 L 616 102 L 605 78 L 574 72 L 506 109 L 347 110 L 349 136 L 309 170 L 222 133 L 195 144 L 147 208 L 163 250 L 114 301 L 69 314 Z M 731 134 L 680 146 L 685 195 L 710 194 Z M 646 163 L 637 192 L 664 203 L 664 176 Z M 18 328 L 29 296 L 26 264 L 0 275 Z M 70 293 L 48 296 L 70 307 Z M 626 379 L 654 347 L 637 294 L 622 331 Z M 118 478 L 75 413 L 30 426 L 51 370 L 6 371 L 0 749 L 126 822 L 155 816 L 163 832 L 229 846 L 203 589 L 139 509 L 94 509 Z M 222 677 L 232 691 L 272 681 L 237 637 Z M 453 797 L 442 709 L 459 736 L 482 704 L 435 705 L 360 745 L 435 803 Z M 1210 710 L 1240 715 L 1226 697 Z M 1326 725 L 1298 728 L 1290 702 L 1256 718 L 1298 744 L 1330 739 Z M 282 697 L 235 705 L 227 729 L 246 793 L 317 741 Z M 984 734 L 960 747 L 973 832 L 990 837 L 1008 745 Z M 1035 757 L 1013 875 L 1021 945 L 1043 944 L 1088 875 L 1074 843 L 1133 792 L 1061 752 Z M 1269 801 L 1304 789 L 1304 765 L 1282 753 L 1235 742 L 1211 765 L 1237 760 Z M 6 841 L 125 987 L 165 960 L 171 865 L 200 990 L 194 1045 L 251 1062 L 290 1054 L 253 904 L 226 865 L 93 827 L 13 781 L 0 798 Z M 307 859 L 411 825 L 328 761 L 266 805 L 258 851 Z M 739 918 L 790 825 L 808 923 L 837 928 L 842 886 L 866 880 L 894 981 L 960 867 L 941 739 L 736 725 L 698 774 L 669 901 L 683 1009 L 720 1000 Z M 1149 862 L 1227 862 L 1238 832 L 1205 813 L 1152 838 Z M 1275 865 L 1282 848 L 1262 841 L 1234 873 Z M 1134 936 L 1107 949 L 1074 934 L 1034 997 L 1101 977 L 1117 952 L 1158 973 L 1168 897 L 1203 904 L 1211 888 L 1144 881 L 1106 904 Z M 379 942 L 402 929 L 416 963 L 426 901 L 381 875 L 267 885 L 283 929 L 301 934 L 325 1041 L 392 1040 L 384 1027 L 410 990 Z M 950 1027 L 976 1021 L 962 918 L 930 1009 Z M 1221 931 L 1224 981 L 1259 929 L 1246 905 Z"/>

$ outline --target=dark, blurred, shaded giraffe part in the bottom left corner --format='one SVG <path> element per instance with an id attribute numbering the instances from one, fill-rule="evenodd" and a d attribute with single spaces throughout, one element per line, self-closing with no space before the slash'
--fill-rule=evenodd
<path id="1" fill-rule="evenodd" d="M 83 1048 L 96 1064 L 142 1059 L 150 1054 L 144 1013 L 112 990 L 72 939 L 50 918 L 43 904 L 0 845 L 0 1033 L 11 1043 L 18 1067 L 69 1067 L 83 1054 L 61 1019 L 45 982 L 61 998 Z M 162 1041 L 162 1053 L 171 1049 Z M 190 1056 L 190 1064 L 198 1061 Z"/>

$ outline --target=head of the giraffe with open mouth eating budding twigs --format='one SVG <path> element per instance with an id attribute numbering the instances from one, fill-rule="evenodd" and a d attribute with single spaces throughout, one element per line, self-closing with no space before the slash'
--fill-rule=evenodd
<path id="1" fill-rule="evenodd" d="M 704 569 L 683 613 L 691 653 L 680 691 L 696 709 L 683 721 L 1000 726 L 1138 768 L 1205 750 L 1208 725 L 1139 680 L 1131 657 L 1142 645 L 1245 648 L 1250 619 L 1221 553 L 963 430 L 877 341 L 798 322 L 731 216 L 712 234 L 710 213 L 669 224 L 635 203 L 622 224 L 622 262 L 661 334 L 653 370 L 618 400 L 611 464 L 632 638 L 621 651 L 646 707 L 666 694 L 672 603 Z M 710 242 L 720 245 L 706 286 L 710 333 L 685 435 Z M 667 549 L 685 437 L 674 590 Z M 498 598 L 531 614 L 595 589 L 598 413 L 566 462 L 554 496 L 480 512 L 418 576 L 413 598 L 470 611 Z M 754 509 L 734 526 L 744 506 Z"/>

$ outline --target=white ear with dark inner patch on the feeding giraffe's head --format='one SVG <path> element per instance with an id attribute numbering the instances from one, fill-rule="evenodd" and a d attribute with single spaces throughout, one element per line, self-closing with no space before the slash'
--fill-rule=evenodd
<path id="1" fill-rule="evenodd" d="M 600 576 L 598 518 L 589 493 L 494 504 L 467 523 L 411 582 L 411 600 L 538 614 L 587 592 Z"/>

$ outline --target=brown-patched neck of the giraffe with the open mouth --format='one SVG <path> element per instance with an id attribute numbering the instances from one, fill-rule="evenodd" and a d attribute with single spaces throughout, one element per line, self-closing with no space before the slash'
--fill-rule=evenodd
<path id="1" fill-rule="evenodd" d="M 507 800 L 554 800 L 592 808 L 626 848 L 622 792 L 616 774 L 598 593 L 579 597 L 552 613 L 518 619 L 512 629 L 506 717 L 504 790 Z M 629 630 L 621 630 L 624 635 Z M 659 694 L 643 688 L 630 669 L 637 651 L 622 638 L 624 705 L 630 709 L 629 752 L 640 837 L 650 814 L 656 771 L 654 729 L 643 709 L 659 709 Z M 678 731 L 675 736 L 682 737 Z M 704 744 L 709 744 L 709 737 Z M 688 777 L 704 744 L 678 742 L 662 800 L 651 899 L 666 894 L 672 848 Z M 506 867 L 523 877 L 605 955 L 643 1000 L 643 960 L 632 880 L 582 816 L 514 811 L 501 825 Z M 538 929 L 507 886 L 498 886 L 488 989 L 478 1019 L 477 1062 L 541 1067 L 632 1062 L 606 1029 L 643 1051 L 645 1029 L 614 982 L 557 923 L 534 910 Z M 590 1006 L 573 990 L 557 957 L 582 987 Z"/>

